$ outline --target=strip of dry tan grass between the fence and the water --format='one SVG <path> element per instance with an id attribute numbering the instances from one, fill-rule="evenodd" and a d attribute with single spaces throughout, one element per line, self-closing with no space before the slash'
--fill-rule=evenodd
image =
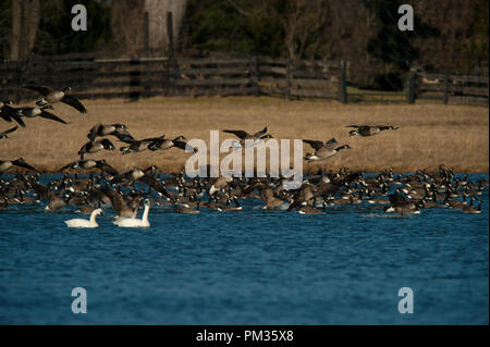
<path id="1" fill-rule="evenodd" d="M 388 166 L 395 172 L 436 170 L 440 163 L 456 172 L 489 170 L 489 109 L 442 104 L 340 104 L 331 101 L 285 101 L 279 98 L 152 98 L 139 102 L 126 100 L 84 100 L 88 114 L 56 106 L 63 125 L 42 119 L 27 119 L 27 127 L 0 140 L 0 159 L 23 157 L 42 172 L 53 172 L 77 160 L 76 152 L 87 140 L 96 123 L 124 123 L 135 138 L 166 134 L 209 141 L 209 131 L 243 128 L 248 132 L 265 125 L 274 138 L 327 140 L 335 137 L 351 150 L 321 164 L 304 164 L 306 172 L 319 165 L 327 170 L 341 166 L 379 172 Z M 388 131 L 368 138 L 348 137 L 348 124 L 392 124 Z M 9 125 L 2 122 L 0 129 Z M 220 133 L 220 139 L 232 135 Z M 113 138 L 111 137 L 111 140 Z M 115 140 L 115 139 L 114 139 Z M 114 142 L 121 147 L 121 142 Z M 304 152 L 310 148 L 305 146 Z M 162 172 L 180 171 L 188 153 L 180 149 L 131 153 L 99 152 L 87 158 L 106 159 L 118 170 L 158 165 Z"/>

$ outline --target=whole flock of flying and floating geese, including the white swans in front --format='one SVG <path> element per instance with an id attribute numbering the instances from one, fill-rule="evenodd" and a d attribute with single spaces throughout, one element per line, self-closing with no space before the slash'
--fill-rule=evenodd
<path id="1" fill-rule="evenodd" d="M 0 101 L 0 117 L 17 125 L 0 133 L 0 140 L 8 138 L 17 127 L 25 127 L 23 117 L 44 117 L 69 124 L 50 112 L 57 102 L 63 102 L 75 110 L 87 113 L 87 109 L 75 97 L 63 90 L 54 90 L 46 86 L 24 86 L 39 92 L 42 98 L 35 107 L 14 107 L 11 100 Z M 48 111 L 50 110 L 50 111 Z M 369 137 L 383 131 L 395 131 L 391 125 L 348 125 L 353 128 L 348 136 Z M 223 131 L 238 138 L 237 147 L 244 147 L 245 140 L 252 139 L 253 146 L 264 139 L 271 138 L 267 127 L 250 135 L 245 131 Z M 262 209 L 297 211 L 302 214 L 322 214 L 329 207 L 340 205 L 370 206 L 372 210 L 395 212 L 401 215 L 419 213 L 421 209 L 450 208 L 464 213 L 481 213 L 481 196 L 488 188 L 488 181 L 470 182 L 468 175 L 455 177 L 453 170 L 444 165 L 438 172 L 419 170 L 414 174 L 394 174 L 391 169 L 378 175 L 367 176 L 362 171 L 352 172 L 347 168 L 339 172 L 323 172 L 304 177 L 301 187 L 287 188 L 286 178 L 273 177 L 215 177 L 189 178 L 183 172 L 161 175 L 158 168 L 132 169 L 118 172 L 106 160 L 85 159 L 101 150 L 113 151 L 114 144 L 108 136 L 124 142 L 120 148 L 122 154 L 142 152 L 144 150 L 168 150 L 177 148 L 185 150 L 189 146 L 184 136 L 168 139 L 163 136 L 135 139 L 124 124 L 96 124 L 87 134 L 87 142 L 78 150 L 79 160 L 71 162 L 59 172 L 69 169 L 79 171 L 97 169 L 100 174 L 90 173 L 88 177 L 62 175 L 48 184 L 41 184 L 40 174 L 23 158 L 0 160 L 0 178 L 12 166 L 34 171 L 30 174 L 16 174 L 12 179 L 0 179 L 0 211 L 10 206 L 24 203 L 42 203 L 47 212 L 56 212 L 73 207 L 76 212 L 89 215 L 89 219 L 72 219 L 65 221 L 69 227 L 97 227 L 97 215 L 112 207 L 117 215 L 113 223 L 120 227 L 148 227 L 150 205 L 168 207 L 179 213 L 199 213 L 201 210 L 220 212 L 240 211 L 240 200 L 258 199 Z M 306 153 L 306 161 L 326 160 L 335 156 L 348 145 L 338 146 L 331 138 L 321 140 L 303 139 L 313 152 Z M 249 141 L 248 141 L 249 144 Z M 1 144 L 0 144 L 1 145 Z M 192 148 L 191 148 L 192 149 Z M 197 151 L 197 149 L 194 149 Z M 3 154 L 3 153 L 2 153 Z M 137 188 L 135 184 L 139 184 Z M 478 202 L 477 202 L 478 201 Z M 137 218 L 140 206 L 144 206 L 142 219 Z"/>

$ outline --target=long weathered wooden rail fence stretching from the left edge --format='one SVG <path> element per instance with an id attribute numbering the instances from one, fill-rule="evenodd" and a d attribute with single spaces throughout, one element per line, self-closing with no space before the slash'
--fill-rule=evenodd
<path id="1" fill-rule="evenodd" d="M 23 85 L 71 86 L 79 98 L 259 96 L 328 98 L 345 102 L 345 64 L 267 58 L 111 59 L 0 63 L 0 97 L 34 94 Z"/>

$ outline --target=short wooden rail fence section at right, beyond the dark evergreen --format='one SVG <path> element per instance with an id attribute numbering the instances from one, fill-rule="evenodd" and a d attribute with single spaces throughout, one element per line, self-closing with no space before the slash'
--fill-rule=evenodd
<path id="1" fill-rule="evenodd" d="M 489 77 L 452 74 L 418 74 L 415 98 L 448 103 L 489 104 Z M 414 99 L 415 101 L 415 99 Z"/>

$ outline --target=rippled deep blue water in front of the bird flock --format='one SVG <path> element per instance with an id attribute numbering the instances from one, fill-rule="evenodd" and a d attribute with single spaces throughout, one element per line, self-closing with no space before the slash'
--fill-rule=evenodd
<path id="1" fill-rule="evenodd" d="M 476 181 L 488 175 L 471 175 Z M 69 230 L 73 211 L 0 211 L 2 324 L 488 324 L 488 190 L 481 214 L 370 206 L 327 215 L 187 215 L 151 207 L 149 230 Z M 388 218 L 390 216 L 390 218 Z M 74 314 L 74 287 L 87 313 Z M 401 314 L 401 287 L 414 313 Z"/>

